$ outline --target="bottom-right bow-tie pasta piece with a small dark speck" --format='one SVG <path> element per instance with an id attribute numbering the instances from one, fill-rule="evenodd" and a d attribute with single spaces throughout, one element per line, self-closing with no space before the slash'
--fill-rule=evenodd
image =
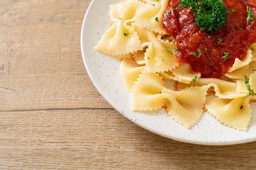
<path id="1" fill-rule="evenodd" d="M 206 103 L 205 108 L 225 126 L 247 131 L 252 118 L 249 99 L 250 97 L 235 98 L 233 100 L 214 98 Z"/>

